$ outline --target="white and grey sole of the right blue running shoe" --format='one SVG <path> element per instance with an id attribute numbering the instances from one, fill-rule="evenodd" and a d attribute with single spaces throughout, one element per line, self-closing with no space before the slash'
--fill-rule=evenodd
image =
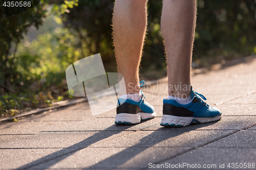
<path id="1" fill-rule="evenodd" d="M 161 119 L 161 126 L 165 127 L 186 127 L 193 123 L 203 124 L 208 122 L 215 122 L 221 119 L 221 115 L 216 117 L 180 117 L 172 115 L 163 115 Z"/>

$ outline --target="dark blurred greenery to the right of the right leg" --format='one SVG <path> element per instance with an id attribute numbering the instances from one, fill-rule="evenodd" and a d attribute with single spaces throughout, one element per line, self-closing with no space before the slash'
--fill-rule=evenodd
<path id="1" fill-rule="evenodd" d="M 198 1 L 194 61 L 200 65 L 256 53 L 254 1 Z"/>

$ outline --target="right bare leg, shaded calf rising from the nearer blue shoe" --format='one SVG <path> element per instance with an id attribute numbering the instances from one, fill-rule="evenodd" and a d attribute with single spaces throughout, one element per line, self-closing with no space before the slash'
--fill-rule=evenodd
<path id="1" fill-rule="evenodd" d="M 161 30 L 166 47 L 168 93 L 177 98 L 190 95 L 196 12 L 196 0 L 163 0 Z"/>

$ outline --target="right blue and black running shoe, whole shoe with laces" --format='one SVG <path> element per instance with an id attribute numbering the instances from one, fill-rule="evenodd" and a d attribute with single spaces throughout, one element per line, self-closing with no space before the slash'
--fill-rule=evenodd
<path id="1" fill-rule="evenodd" d="M 185 127 L 193 123 L 201 124 L 221 119 L 221 111 L 211 107 L 206 98 L 191 89 L 191 102 L 182 105 L 173 99 L 163 100 L 163 116 L 160 125 L 166 127 Z M 203 100 L 202 100 L 202 99 Z"/>

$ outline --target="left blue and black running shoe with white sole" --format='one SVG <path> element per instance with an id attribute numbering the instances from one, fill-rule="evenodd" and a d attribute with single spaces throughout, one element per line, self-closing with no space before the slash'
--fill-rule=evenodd
<path id="1" fill-rule="evenodd" d="M 145 83 L 141 81 L 140 83 Z M 141 84 L 140 87 L 143 85 Z M 118 107 L 116 108 L 117 125 L 134 125 L 139 124 L 141 120 L 152 119 L 156 117 L 156 112 L 153 106 L 145 101 L 145 95 L 142 95 L 138 102 L 132 99 L 118 99 Z"/>

